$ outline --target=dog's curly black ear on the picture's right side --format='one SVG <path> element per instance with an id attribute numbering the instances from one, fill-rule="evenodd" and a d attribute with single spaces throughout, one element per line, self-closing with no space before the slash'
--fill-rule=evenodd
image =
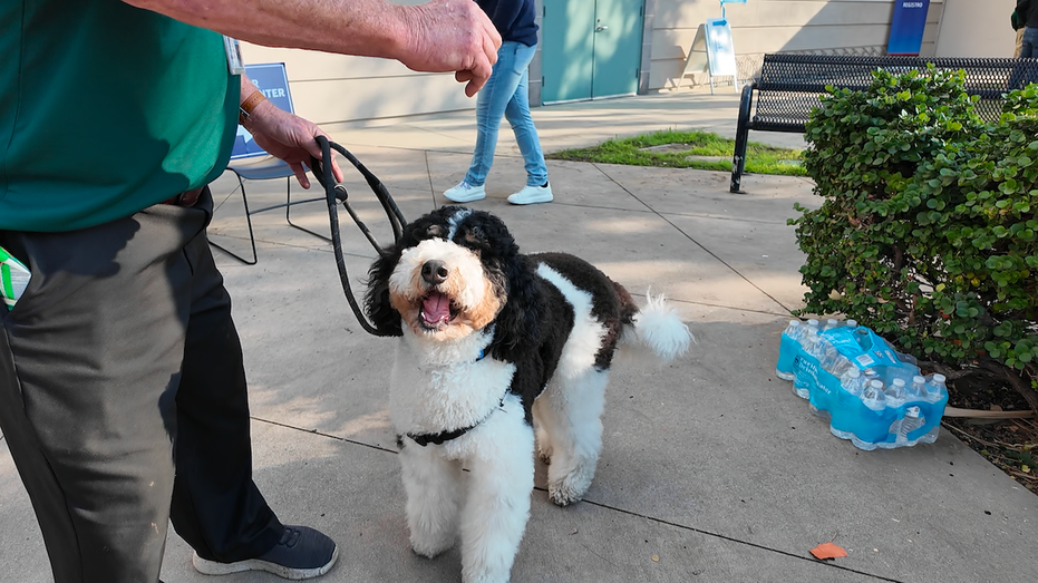
<path id="1" fill-rule="evenodd" d="M 526 255 L 504 262 L 502 273 L 505 305 L 494 320 L 494 339 L 487 348 L 498 360 L 515 361 L 521 352 L 541 344 L 541 283 Z"/>

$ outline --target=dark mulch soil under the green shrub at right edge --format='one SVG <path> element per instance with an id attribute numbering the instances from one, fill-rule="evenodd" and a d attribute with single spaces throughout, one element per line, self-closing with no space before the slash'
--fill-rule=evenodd
<path id="1" fill-rule="evenodd" d="M 949 387 L 948 406 L 973 410 L 1030 410 L 1012 388 L 999 383 Z M 1038 419 L 988 420 L 944 417 L 941 427 L 998 466 L 1021 486 L 1038 494 Z"/>

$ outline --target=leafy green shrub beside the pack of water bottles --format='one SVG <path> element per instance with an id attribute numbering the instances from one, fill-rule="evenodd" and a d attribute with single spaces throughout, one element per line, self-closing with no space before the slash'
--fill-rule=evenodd
<path id="1" fill-rule="evenodd" d="M 790 221 L 803 312 L 999 377 L 1038 410 L 1038 93 L 1013 91 L 984 125 L 962 79 L 877 71 L 867 90 L 823 96 L 804 159 L 824 202 Z"/>

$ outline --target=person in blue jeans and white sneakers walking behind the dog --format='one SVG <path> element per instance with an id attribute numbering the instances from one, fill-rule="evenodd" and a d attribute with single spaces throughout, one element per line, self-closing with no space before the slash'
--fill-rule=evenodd
<path id="1" fill-rule="evenodd" d="M 526 186 L 508 196 L 512 204 L 549 203 L 553 200 L 547 167 L 541 152 L 537 128 L 530 116 L 530 61 L 537 50 L 537 25 L 534 0 L 476 0 L 501 33 L 501 49 L 494 72 L 476 100 L 476 147 L 465 178 L 444 196 L 455 203 L 471 203 L 486 197 L 486 175 L 494 164 L 501 117 L 512 124 L 515 140 L 523 153 Z"/>

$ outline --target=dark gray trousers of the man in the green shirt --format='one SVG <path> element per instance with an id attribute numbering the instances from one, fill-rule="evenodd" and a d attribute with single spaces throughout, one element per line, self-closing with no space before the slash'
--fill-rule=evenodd
<path id="1" fill-rule="evenodd" d="M 0 231 L 32 273 L 13 310 L 0 304 L 0 428 L 56 583 L 154 583 L 171 518 L 223 562 L 281 536 L 252 480 L 212 205 L 206 190 L 192 208 L 81 231 Z"/>

